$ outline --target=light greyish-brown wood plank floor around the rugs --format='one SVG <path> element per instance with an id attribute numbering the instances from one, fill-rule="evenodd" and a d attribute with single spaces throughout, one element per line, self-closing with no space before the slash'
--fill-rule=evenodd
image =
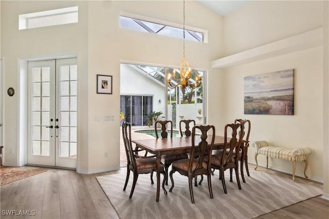
<path id="1" fill-rule="evenodd" d="M 86 175 L 49 168 L 45 173 L 1 187 L 0 217 L 119 218 L 96 180 L 96 176 L 115 172 Z M 6 210 L 16 210 L 16 214 L 29 210 L 35 215 L 10 216 L 5 215 Z M 318 196 L 257 218 L 329 218 L 329 201 Z"/>

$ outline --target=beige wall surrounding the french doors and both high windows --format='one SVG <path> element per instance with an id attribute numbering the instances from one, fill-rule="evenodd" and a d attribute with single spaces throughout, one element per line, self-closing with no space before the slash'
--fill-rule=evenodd
<path id="1" fill-rule="evenodd" d="M 24 148 L 19 144 L 20 94 L 17 60 L 75 54 L 79 70 L 78 171 L 101 172 L 119 167 L 120 61 L 179 66 L 182 40 L 119 28 L 120 13 L 133 13 L 182 24 L 178 1 L 1 1 L 2 55 L 5 88 L 17 95 L 5 96 L 5 164 L 20 165 Z M 19 14 L 79 6 L 79 23 L 18 30 Z M 211 22 L 209 22 L 211 21 Z M 210 60 L 222 54 L 222 17 L 196 2 L 186 2 L 186 26 L 209 30 L 208 43 L 186 41 L 186 58 L 194 68 L 209 69 Z M 208 82 L 217 114 L 218 69 L 210 69 Z M 96 74 L 113 75 L 113 94 L 96 94 Z M 115 120 L 104 121 L 105 115 Z M 95 117 L 100 118 L 95 122 Z M 26 143 L 25 143 L 26 144 Z M 11 153 L 11 151 L 14 151 Z M 104 152 L 108 157 L 104 158 Z"/>

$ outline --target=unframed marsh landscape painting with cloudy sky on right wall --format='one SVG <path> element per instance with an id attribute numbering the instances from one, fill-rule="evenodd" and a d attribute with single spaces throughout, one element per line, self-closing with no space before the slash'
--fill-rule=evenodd
<path id="1" fill-rule="evenodd" d="M 244 114 L 294 115 L 294 69 L 244 77 Z"/>

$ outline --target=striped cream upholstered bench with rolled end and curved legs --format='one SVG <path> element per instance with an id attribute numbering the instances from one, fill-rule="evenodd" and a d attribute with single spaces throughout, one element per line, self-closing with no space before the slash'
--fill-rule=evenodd
<path id="1" fill-rule="evenodd" d="M 256 162 L 255 170 L 258 167 L 257 155 L 263 154 L 266 156 L 266 169 L 268 168 L 268 157 L 279 158 L 293 162 L 294 181 L 295 181 L 296 162 L 304 161 L 305 162 L 304 175 L 306 179 L 308 178 L 308 176 L 305 174 L 307 168 L 306 158 L 307 158 L 307 154 L 312 153 L 311 148 L 306 147 L 306 148 L 288 149 L 288 148 L 273 147 L 270 146 L 269 143 L 266 141 L 253 142 L 251 145 L 255 147 L 255 162 Z"/>

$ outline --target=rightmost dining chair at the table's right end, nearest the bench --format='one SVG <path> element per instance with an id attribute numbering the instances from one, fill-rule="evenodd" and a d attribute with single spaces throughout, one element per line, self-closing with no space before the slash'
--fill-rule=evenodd
<path id="1" fill-rule="evenodd" d="M 241 144 L 241 153 L 239 153 L 239 161 L 240 161 L 240 171 L 241 171 L 241 178 L 244 183 L 246 183 L 244 171 L 243 171 L 243 164 L 245 164 L 247 175 L 249 174 L 248 169 L 248 147 L 249 147 L 249 134 L 250 134 L 250 121 L 249 120 L 242 120 L 237 119 L 234 121 L 234 124 L 240 123 L 242 124 L 243 128 L 243 140 L 244 142 Z M 246 125 L 247 124 L 247 125 Z M 246 134 L 247 133 L 247 134 Z M 232 169 L 230 169 L 230 182 L 232 182 Z"/>

